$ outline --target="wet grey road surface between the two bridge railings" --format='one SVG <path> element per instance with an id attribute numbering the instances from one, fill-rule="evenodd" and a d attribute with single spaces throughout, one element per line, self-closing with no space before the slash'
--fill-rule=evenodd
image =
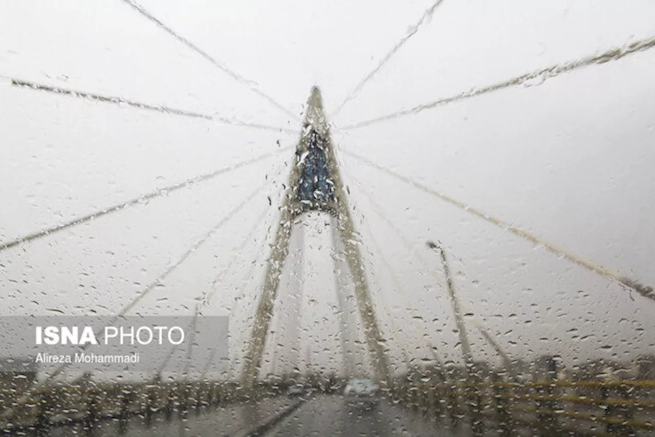
<path id="1" fill-rule="evenodd" d="M 466 436 L 465 428 L 446 428 L 417 411 L 381 399 L 373 408 L 350 406 L 342 396 L 315 394 L 303 398 L 279 396 L 231 404 L 196 413 L 155 413 L 149 423 L 134 416 L 126 421 L 98 421 L 92 430 L 83 424 L 56 427 L 50 436 L 71 434 L 109 437 L 191 436 Z M 470 430 L 469 430 L 470 431 Z M 43 435 L 43 434 L 41 434 Z"/>

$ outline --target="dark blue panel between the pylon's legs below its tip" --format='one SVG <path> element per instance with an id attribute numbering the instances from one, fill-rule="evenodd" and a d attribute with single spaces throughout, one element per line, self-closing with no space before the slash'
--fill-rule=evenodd
<path id="1" fill-rule="evenodd" d="M 325 142 L 315 130 L 310 132 L 307 155 L 301 165 L 303 169 L 298 181 L 298 200 L 308 206 L 314 206 L 316 201 L 333 201 L 334 184 L 327 169 Z"/>

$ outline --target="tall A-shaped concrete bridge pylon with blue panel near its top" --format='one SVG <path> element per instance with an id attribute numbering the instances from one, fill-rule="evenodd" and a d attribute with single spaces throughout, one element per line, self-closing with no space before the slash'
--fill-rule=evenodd
<path id="1" fill-rule="evenodd" d="M 362 318 L 364 336 L 375 377 L 381 383 L 387 383 L 389 370 L 384 339 L 371 301 L 364 263 L 357 244 L 358 235 L 354 229 L 346 191 L 331 143 L 320 90 L 314 86 L 307 102 L 307 113 L 296 147 L 294 165 L 280 207 L 280 220 L 247 346 L 242 384 L 248 389 L 254 387 L 257 381 L 280 286 L 282 268 L 289 254 L 291 227 L 295 218 L 309 211 L 326 212 L 333 217 L 331 223 L 339 236 L 343 257 L 354 282 L 355 300 Z M 337 293 L 342 291 L 337 286 Z M 347 354 L 346 351 L 344 352 Z"/>

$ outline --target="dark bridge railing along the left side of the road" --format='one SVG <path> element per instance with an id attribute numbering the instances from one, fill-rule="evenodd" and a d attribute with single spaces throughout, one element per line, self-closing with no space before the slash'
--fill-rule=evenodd
<path id="1" fill-rule="evenodd" d="M 238 381 L 189 379 L 168 381 L 122 382 L 92 381 L 56 383 L 37 387 L 35 381 L 16 384 L 11 379 L 0 384 L 0 431 L 23 432 L 82 423 L 93 427 L 96 421 L 115 419 L 127 423 L 140 416 L 149 423 L 154 414 L 165 419 L 183 417 L 192 409 L 198 413 L 219 404 L 257 402 L 263 398 L 286 394 L 297 383 L 325 393 L 335 393 L 345 385 L 334 374 L 312 373 L 302 380 L 293 375 L 269 375 L 257 381 L 253 389 L 244 389 Z"/>

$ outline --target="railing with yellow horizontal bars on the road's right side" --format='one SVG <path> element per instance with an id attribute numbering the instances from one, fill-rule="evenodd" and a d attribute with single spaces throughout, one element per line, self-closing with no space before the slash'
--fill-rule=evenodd
<path id="1" fill-rule="evenodd" d="M 553 435 L 655 431 L 655 380 L 431 381 L 392 385 L 391 396 L 473 434 L 495 428 L 515 434 L 533 428 Z"/>

